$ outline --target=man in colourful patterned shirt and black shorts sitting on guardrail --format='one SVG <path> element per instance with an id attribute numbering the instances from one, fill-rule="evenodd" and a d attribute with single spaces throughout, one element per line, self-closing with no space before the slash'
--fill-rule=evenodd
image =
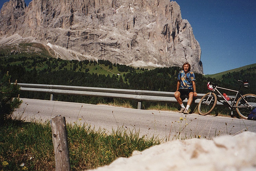
<path id="1" fill-rule="evenodd" d="M 188 109 L 193 101 L 193 97 L 197 96 L 196 93 L 196 83 L 195 83 L 195 74 L 194 72 L 190 71 L 190 64 L 186 62 L 182 66 L 183 70 L 179 71 L 178 74 L 178 82 L 177 82 L 177 90 L 174 93 L 175 99 L 180 104 L 181 109 L 179 113 L 188 114 Z M 180 96 L 188 95 L 188 103 L 185 108 L 182 99 Z"/>

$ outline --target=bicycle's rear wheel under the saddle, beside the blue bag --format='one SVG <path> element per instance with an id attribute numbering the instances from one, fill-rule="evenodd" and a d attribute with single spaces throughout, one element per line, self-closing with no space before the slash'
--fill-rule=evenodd
<path id="1" fill-rule="evenodd" d="M 244 99 L 243 99 L 244 98 Z M 256 95 L 255 94 L 244 94 L 243 98 L 240 97 L 237 100 L 237 113 L 243 118 L 247 119 L 248 115 L 256 107 Z"/>

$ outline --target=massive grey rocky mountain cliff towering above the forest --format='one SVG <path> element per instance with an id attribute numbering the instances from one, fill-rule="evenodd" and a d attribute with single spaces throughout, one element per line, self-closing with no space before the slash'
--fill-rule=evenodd
<path id="1" fill-rule="evenodd" d="M 180 7 L 169 0 L 6 2 L 0 43 L 37 42 L 54 57 L 133 66 L 182 66 L 202 73 L 201 48 Z"/>

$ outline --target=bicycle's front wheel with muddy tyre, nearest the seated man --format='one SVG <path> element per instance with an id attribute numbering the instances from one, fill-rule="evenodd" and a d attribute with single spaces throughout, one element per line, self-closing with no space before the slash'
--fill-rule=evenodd
<path id="1" fill-rule="evenodd" d="M 200 115 L 208 115 L 217 104 L 217 96 L 215 93 L 205 94 L 198 104 L 198 113 Z"/>

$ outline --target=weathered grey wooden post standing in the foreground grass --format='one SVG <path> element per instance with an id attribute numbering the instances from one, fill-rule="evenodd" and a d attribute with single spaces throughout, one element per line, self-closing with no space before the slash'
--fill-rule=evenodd
<path id="1" fill-rule="evenodd" d="M 70 171 L 66 119 L 56 116 L 51 119 L 52 142 L 55 153 L 55 170 Z"/>

